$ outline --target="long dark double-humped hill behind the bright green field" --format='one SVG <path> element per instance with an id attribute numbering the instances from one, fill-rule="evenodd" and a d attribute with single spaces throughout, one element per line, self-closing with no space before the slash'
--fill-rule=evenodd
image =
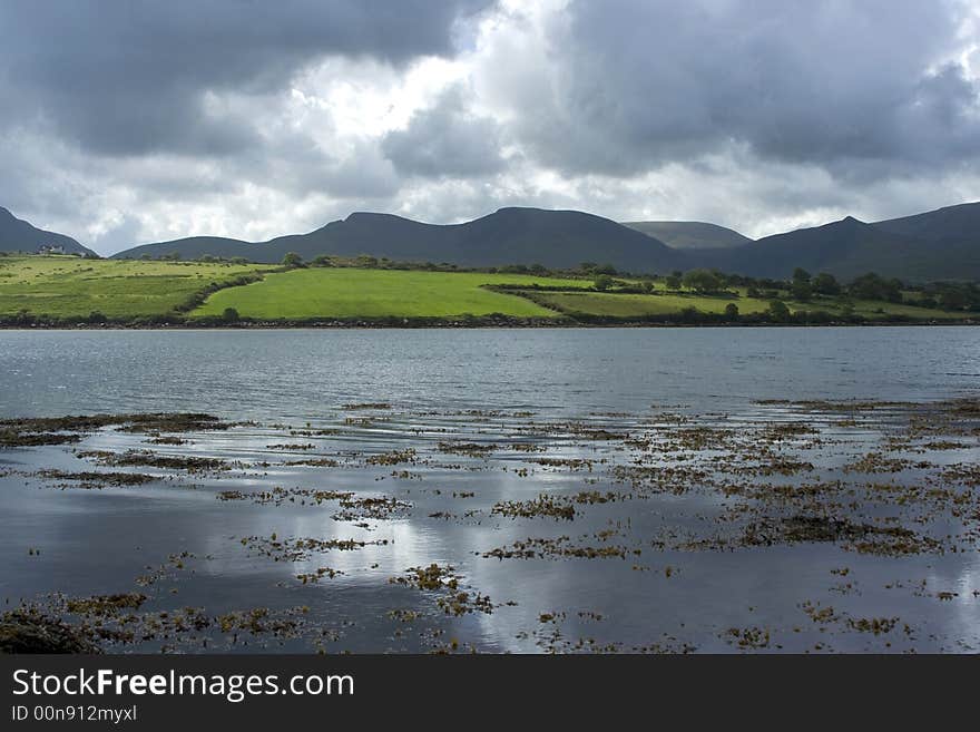
<path id="1" fill-rule="evenodd" d="M 354 213 L 310 232 L 251 243 L 216 237 L 189 237 L 136 246 L 120 258 L 244 256 L 280 262 L 287 252 L 304 258 L 320 254 L 413 262 L 450 262 L 460 266 L 543 264 L 574 267 L 581 262 L 610 263 L 619 270 L 665 272 L 685 269 L 686 256 L 659 240 L 601 216 L 578 211 L 501 208 L 463 224 L 437 225 L 390 214 Z"/>

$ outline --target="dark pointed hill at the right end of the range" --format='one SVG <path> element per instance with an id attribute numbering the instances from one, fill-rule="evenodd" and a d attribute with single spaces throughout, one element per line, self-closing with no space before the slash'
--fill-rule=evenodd
<path id="1" fill-rule="evenodd" d="M 839 222 L 724 251 L 688 251 L 702 266 L 786 277 L 795 267 L 849 280 L 865 272 L 909 281 L 980 280 L 980 204 L 876 222 Z"/>

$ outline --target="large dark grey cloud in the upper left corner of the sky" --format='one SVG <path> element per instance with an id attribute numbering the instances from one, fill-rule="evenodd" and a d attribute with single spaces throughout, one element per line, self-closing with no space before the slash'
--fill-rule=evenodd
<path id="1" fill-rule="evenodd" d="M 271 95 L 325 56 L 399 64 L 453 48 L 489 0 L 46 0 L 0 3 L 8 123 L 98 153 L 223 155 L 256 143 L 207 91 Z"/>

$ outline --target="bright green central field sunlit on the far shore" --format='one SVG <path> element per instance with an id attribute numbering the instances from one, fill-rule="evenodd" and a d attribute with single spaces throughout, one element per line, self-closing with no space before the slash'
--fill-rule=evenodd
<path id="1" fill-rule="evenodd" d="M 270 274 L 262 282 L 214 293 L 192 314 L 220 315 L 234 308 L 243 318 L 452 318 L 500 313 L 556 318 L 558 313 L 483 284 L 589 287 L 582 280 L 477 272 L 310 269 Z"/>

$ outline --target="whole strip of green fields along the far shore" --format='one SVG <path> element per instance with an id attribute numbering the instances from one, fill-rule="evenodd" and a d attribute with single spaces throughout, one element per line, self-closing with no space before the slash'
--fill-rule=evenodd
<path id="1" fill-rule="evenodd" d="M 243 276 L 261 280 L 243 284 L 239 281 Z M 620 283 L 617 286 L 638 284 Z M 496 291 L 487 285 L 519 289 Z M 781 294 L 791 312 L 823 311 L 834 320 L 853 320 L 853 315 L 872 322 L 896 318 L 920 322 L 980 318 L 977 313 L 884 301 L 859 300 L 847 305 L 844 297 L 821 296 L 805 303 L 793 302 L 787 293 Z M 914 295 L 905 293 L 906 299 Z M 591 280 L 528 274 L 344 266 L 283 270 L 258 264 L 0 256 L 0 319 L 19 325 L 105 319 L 137 325 L 185 320 L 213 324 L 215 319 L 224 321 L 227 309 L 234 309 L 242 319 L 256 321 L 504 315 L 614 323 L 616 319 L 689 322 L 690 318 L 683 312 L 695 309 L 704 314 L 700 322 L 705 322 L 713 316 L 717 321 L 729 303 L 734 303 L 739 316 L 747 321 L 766 320 L 770 300 L 748 297 L 745 289 L 738 290 L 737 296 L 668 292 L 661 281 L 656 283 L 653 293 L 638 294 L 617 292 L 615 287 L 596 292 Z M 94 313 L 100 318 L 95 319 Z"/>

